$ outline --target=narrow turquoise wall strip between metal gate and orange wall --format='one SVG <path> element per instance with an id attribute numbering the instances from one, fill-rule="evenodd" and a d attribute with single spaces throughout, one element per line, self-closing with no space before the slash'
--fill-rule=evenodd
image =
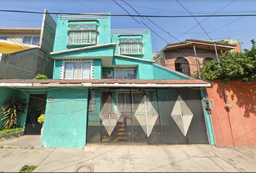
<path id="1" fill-rule="evenodd" d="M 216 145 L 216 140 L 215 140 L 214 130 L 213 130 L 213 123 L 212 123 L 212 119 L 210 117 L 210 110 L 205 109 L 204 99 L 207 98 L 207 92 L 205 91 L 205 89 L 201 88 L 200 93 L 201 93 L 201 97 L 202 97 L 202 108 L 203 108 L 203 111 L 205 114 L 205 123 L 206 123 L 207 132 L 208 132 L 209 143 L 211 145 Z"/>

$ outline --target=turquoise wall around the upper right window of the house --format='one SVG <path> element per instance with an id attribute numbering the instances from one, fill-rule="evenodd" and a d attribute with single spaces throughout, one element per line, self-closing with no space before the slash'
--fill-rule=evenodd
<path id="1" fill-rule="evenodd" d="M 142 58 L 153 61 L 153 53 L 152 53 L 152 44 L 151 44 L 151 35 L 150 30 L 148 30 L 148 34 L 139 33 L 138 35 L 142 36 L 119 36 L 120 34 L 112 34 L 111 42 L 116 43 L 115 54 L 119 54 L 119 39 L 120 38 L 142 38 L 143 43 L 143 56 L 132 55 L 136 58 Z M 133 34 L 136 35 L 136 34 Z M 127 55 L 128 56 L 128 55 Z"/>

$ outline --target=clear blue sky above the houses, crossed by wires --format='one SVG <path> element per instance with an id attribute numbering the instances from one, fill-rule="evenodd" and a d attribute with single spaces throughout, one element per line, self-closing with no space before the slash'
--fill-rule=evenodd
<path id="1" fill-rule="evenodd" d="M 150 29 L 153 52 L 186 39 L 238 39 L 242 50 L 256 40 L 255 0 L 0 0 L 0 10 L 50 13 L 108 13 L 151 17 L 111 16 L 111 29 Z M 194 17 L 209 15 L 209 17 Z M 56 21 L 57 15 L 51 14 Z M 165 17 L 164 17 L 165 16 Z M 167 16 L 167 17 L 166 17 Z M 179 17 L 173 17 L 179 16 Z M 187 17 L 182 17 L 187 16 Z M 43 14 L 0 12 L 1 27 L 41 27 Z M 199 24 L 198 24 L 199 23 Z"/>

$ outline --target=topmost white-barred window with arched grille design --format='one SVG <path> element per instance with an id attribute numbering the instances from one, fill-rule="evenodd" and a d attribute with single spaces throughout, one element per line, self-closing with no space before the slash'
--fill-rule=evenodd
<path id="1" fill-rule="evenodd" d="M 90 29 L 90 26 L 95 26 L 95 30 L 92 30 Z M 80 28 L 80 30 L 78 29 Z M 88 28 L 88 29 L 87 29 Z M 68 30 L 68 37 L 67 37 L 67 45 L 98 45 L 98 25 L 96 24 L 83 24 L 83 25 L 77 25 L 77 27 L 74 28 L 74 30 L 70 30 L 70 25 L 69 25 L 69 30 Z M 92 37 L 92 34 L 93 32 L 95 32 L 95 42 L 96 43 L 91 43 L 91 37 Z M 72 33 L 72 40 L 70 40 L 70 35 Z M 89 38 L 86 37 L 86 40 L 89 40 L 89 42 L 84 42 L 82 43 L 82 36 L 81 36 L 81 43 L 74 43 L 74 35 L 75 33 L 80 33 L 81 35 L 82 34 L 89 34 Z M 85 39 L 84 39 L 85 40 Z"/>

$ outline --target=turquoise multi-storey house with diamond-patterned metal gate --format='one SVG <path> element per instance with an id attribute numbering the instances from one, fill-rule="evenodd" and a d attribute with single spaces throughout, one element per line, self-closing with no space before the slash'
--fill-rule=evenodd
<path id="1" fill-rule="evenodd" d="M 43 147 L 215 144 L 201 89 L 211 84 L 155 64 L 150 30 L 111 30 L 108 13 L 59 14 L 51 56 L 53 79 L 0 80 L 1 102 L 47 94 Z"/>

